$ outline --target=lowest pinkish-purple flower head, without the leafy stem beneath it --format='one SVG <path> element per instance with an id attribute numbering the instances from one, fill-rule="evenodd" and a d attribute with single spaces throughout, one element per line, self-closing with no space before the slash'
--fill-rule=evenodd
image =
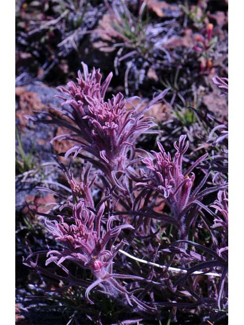
<path id="1" fill-rule="evenodd" d="M 65 247 L 62 251 L 49 251 L 47 256 L 50 257 L 46 265 L 53 261 L 60 264 L 65 259 L 70 259 L 90 269 L 97 278 L 103 278 L 111 270 L 112 257 L 117 253 L 116 246 L 112 247 L 112 243 L 122 229 L 133 229 L 129 224 L 111 228 L 113 217 L 110 217 L 107 231 L 102 232 L 100 224 L 104 209 L 103 203 L 95 215 L 85 207 L 84 200 L 80 199 L 79 203 L 73 206 L 72 224 L 64 222 L 61 215 L 58 216 L 60 222 L 46 219 L 45 226 L 48 232 Z"/>

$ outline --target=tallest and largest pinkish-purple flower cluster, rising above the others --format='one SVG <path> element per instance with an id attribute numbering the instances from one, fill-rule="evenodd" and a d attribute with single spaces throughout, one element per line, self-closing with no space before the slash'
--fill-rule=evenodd
<path id="1" fill-rule="evenodd" d="M 143 112 L 138 112 L 136 107 L 128 109 L 133 98 L 125 100 L 120 92 L 105 101 L 112 73 L 101 84 L 100 70 L 94 68 L 92 73 L 88 73 L 86 64 L 82 65 L 83 77 L 79 71 L 77 84 L 69 82 L 68 89 L 59 87 L 65 94 L 58 95 L 64 100 L 63 112 L 69 120 L 65 121 L 65 126 L 73 133 L 55 137 L 53 141 L 58 139 L 77 142 L 77 145 L 66 152 L 66 157 L 71 154 L 75 157 L 85 151 L 95 158 L 97 166 L 103 172 L 109 174 L 113 170 L 123 171 L 128 152 L 135 147 L 135 140 L 156 124 L 151 118 L 143 117 Z M 165 92 L 154 99 L 153 103 L 160 100 L 164 94 Z M 149 103 L 144 111 L 151 104 Z M 64 125 L 64 120 L 56 122 Z"/>

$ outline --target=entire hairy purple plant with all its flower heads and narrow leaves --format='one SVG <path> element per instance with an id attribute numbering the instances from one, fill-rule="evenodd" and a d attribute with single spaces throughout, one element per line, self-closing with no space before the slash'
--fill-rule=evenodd
<path id="1" fill-rule="evenodd" d="M 155 314 L 161 305 L 185 306 L 183 298 L 190 299 L 189 306 L 204 304 L 206 300 L 195 294 L 194 289 L 189 286 L 189 289 L 184 287 L 175 297 L 177 286 L 181 282 L 185 283 L 195 269 L 207 272 L 210 267 L 211 270 L 216 268 L 216 276 L 219 276 L 218 272 L 223 266 L 221 288 L 216 291 L 216 297 L 207 300 L 208 304 L 211 302 L 221 307 L 227 263 L 227 185 L 225 182 L 217 185 L 210 183 L 206 187 L 211 168 L 210 164 L 209 169 L 202 168 L 202 163 L 206 166 L 209 153 L 206 152 L 196 159 L 189 159 L 190 156 L 186 158 L 189 148 L 186 135 L 181 135 L 179 141 L 173 144 L 172 148 L 176 150 L 174 155 L 166 153 L 161 143 L 158 143 L 159 152 L 138 150 L 138 137 L 156 125 L 151 118 L 144 117 L 144 113 L 151 105 L 158 103 L 168 89 L 143 109 L 140 106 L 134 107 L 133 98 L 126 100 L 121 93 L 106 99 L 112 74 L 102 82 L 99 70 L 94 69 L 89 73 L 86 64 L 82 64 L 83 75 L 78 73 L 77 82 L 59 87 L 62 92 L 59 96 L 64 101 L 62 114 L 57 116 L 42 113 L 32 117 L 34 121 L 55 123 L 69 129 L 70 133 L 60 135 L 54 140 L 76 142 L 61 155 L 71 161 L 75 157 L 79 158 L 83 169 L 80 169 L 78 180 L 71 172 L 71 166 L 67 169 L 59 162 L 59 167 L 67 178 L 68 185 L 65 188 L 68 195 L 66 197 L 56 189 L 56 192 L 46 189 L 56 193 L 62 202 L 50 213 L 39 213 L 44 216 L 44 226 L 56 246 L 54 249 L 32 253 L 25 258 L 25 265 L 68 285 L 85 288 L 84 297 L 90 304 L 93 303 L 89 297 L 90 291 L 99 288 L 100 293 L 131 306 L 134 311 Z M 141 152 L 144 153 L 143 156 L 140 155 Z M 218 191 L 218 200 L 215 201 Z M 211 207 L 218 212 L 215 219 L 213 210 L 209 208 L 210 204 L 204 202 L 205 197 L 209 200 L 212 196 L 214 200 L 210 201 Z M 155 212 L 154 205 L 160 201 L 164 205 L 161 205 L 161 211 Z M 192 228 L 196 229 L 197 222 L 205 214 L 213 218 L 212 228 L 208 226 L 208 231 L 212 235 L 212 249 L 215 251 L 189 241 L 189 233 L 193 232 Z M 204 222 L 201 226 L 207 226 L 206 221 Z M 161 242 L 160 237 L 162 227 L 165 228 L 168 223 L 171 223 L 170 227 L 173 226 L 177 233 L 174 237 L 175 245 L 171 242 L 169 248 L 165 247 L 166 244 Z M 148 233 L 146 236 L 139 236 L 138 231 L 143 225 Z M 224 232 L 219 240 L 216 232 L 220 228 Z M 161 252 L 172 253 L 173 257 L 164 260 L 163 263 L 167 266 L 156 266 L 165 268 L 167 273 L 167 270 L 170 271 L 170 264 L 174 262 L 179 267 L 179 276 L 182 275 L 182 267 L 185 268 L 185 282 L 180 282 L 179 279 L 174 287 L 170 272 L 167 276 L 166 273 L 158 273 L 156 270 L 144 272 L 140 269 L 136 272 L 125 259 L 122 262 L 121 254 L 128 254 L 129 249 L 137 253 L 144 249 L 143 246 L 137 248 L 138 237 L 140 245 L 146 243 L 147 249 L 144 252 L 150 261 L 155 260 L 160 252 L 159 247 L 163 244 L 164 249 Z M 196 240 L 197 238 L 196 236 Z M 154 250 L 153 243 L 155 245 L 157 240 L 159 245 Z M 184 243 L 185 246 L 178 243 Z M 201 254 L 188 249 L 194 245 L 204 252 L 210 252 L 211 256 L 217 256 L 216 259 L 208 262 Z M 44 256 L 45 267 L 40 265 L 40 256 Z M 189 261 L 204 263 L 194 266 L 193 269 L 190 268 Z M 88 270 L 93 282 L 74 275 L 72 265 Z M 188 267 L 190 271 L 187 271 Z M 115 272 L 115 268 L 118 271 Z M 145 282 L 147 285 L 143 289 L 141 283 Z M 197 283 L 192 284 L 195 289 L 198 287 Z M 159 301 L 162 289 L 168 295 L 165 302 Z"/>

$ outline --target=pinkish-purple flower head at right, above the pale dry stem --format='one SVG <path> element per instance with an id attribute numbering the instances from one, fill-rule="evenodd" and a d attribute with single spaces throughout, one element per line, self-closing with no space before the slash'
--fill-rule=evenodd
<path id="1" fill-rule="evenodd" d="M 173 158 L 158 142 L 160 152 L 151 151 L 154 155 L 148 154 L 148 157 L 142 160 L 148 171 L 141 170 L 142 182 L 136 184 L 156 190 L 164 197 L 166 204 L 170 207 L 172 217 L 179 221 L 181 237 L 186 233 L 186 215 L 192 206 L 197 205 L 211 213 L 201 202 L 202 198 L 225 186 L 214 186 L 200 191 L 209 176 L 209 172 L 207 172 L 198 186 L 193 189 L 195 174 L 192 171 L 208 154 L 202 155 L 184 172 L 182 160 L 189 147 L 186 137 L 186 135 L 182 135 L 179 138 L 179 144 L 174 143 L 176 153 Z"/>

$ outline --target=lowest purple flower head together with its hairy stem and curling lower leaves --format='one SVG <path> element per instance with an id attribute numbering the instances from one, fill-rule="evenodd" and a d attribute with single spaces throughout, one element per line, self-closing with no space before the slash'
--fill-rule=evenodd
<path id="1" fill-rule="evenodd" d="M 44 223 L 47 231 L 57 242 L 62 243 L 64 247 L 60 250 L 48 251 L 45 265 L 48 266 L 50 263 L 55 263 L 58 267 L 68 272 L 63 263 L 69 260 L 82 268 L 89 269 L 95 277 L 95 281 L 85 291 L 85 298 L 90 304 L 93 304 L 93 301 L 88 296 L 90 290 L 100 285 L 105 294 L 114 298 L 120 297 L 125 303 L 129 303 L 131 306 L 134 304 L 141 310 L 155 312 L 155 308 L 150 307 L 134 296 L 138 289 L 128 291 L 125 286 L 116 280 L 119 278 L 144 280 L 144 278 L 129 274 L 113 273 L 113 258 L 119 249 L 125 245 L 123 240 L 117 244 L 115 244 L 115 241 L 121 230 L 132 230 L 134 228 L 130 224 L 112 227 L 115 216 L 111 216 L 106 221 L 105 230 L 101 224 L 104 209 L 105 204 L 102 203 L 99 210 L 95 213 L 85 207 L 84 200 L 80 199 L 77 204 L 73 205 L 72 223 L 65 222 L 61 215 L 58 215 L 59 222 L 57 220 L 45 219 Z M 34 255 L 38 255 L 38 253 L 29 255 L 24 264 L 52 276 L 49 271 L 40 268 L 37 262 L 32 261 Z M 74 278 L 70 272 L 68 274 L 70 284 L 77 285 L 79 279 Z"/>

